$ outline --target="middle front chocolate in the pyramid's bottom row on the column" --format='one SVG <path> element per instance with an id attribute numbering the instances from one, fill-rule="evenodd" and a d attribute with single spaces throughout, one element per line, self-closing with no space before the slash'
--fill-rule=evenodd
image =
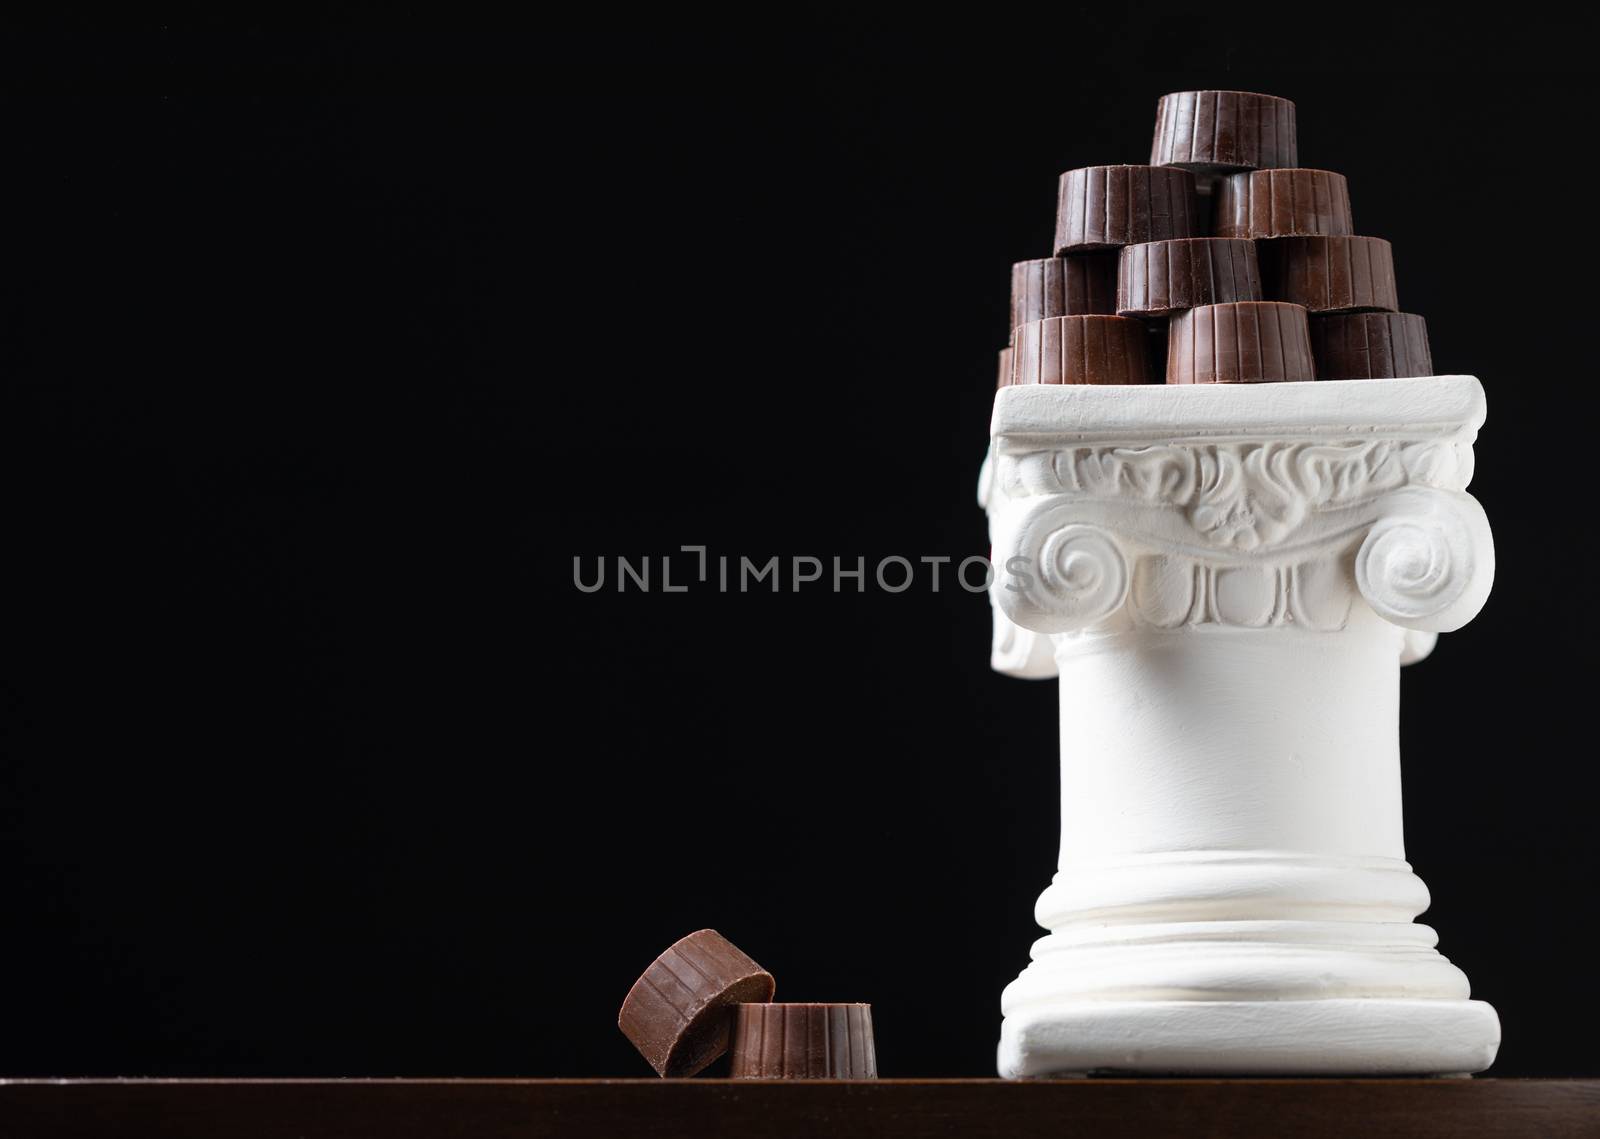
<path id="1" fill-rule="evenodd" d="M 1171 318 L 1168 384 L 1267 384 L 1315 378 L 1306 310 L 1298 304 L 1208 304 Z"/>

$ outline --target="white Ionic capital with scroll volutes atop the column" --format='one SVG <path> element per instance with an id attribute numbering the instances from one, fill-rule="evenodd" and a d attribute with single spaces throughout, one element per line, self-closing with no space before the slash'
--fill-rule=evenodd
<path id="1" fill-rule="evenodd" d="M 1494 576 L 1466 493 L 1482 421 L 1470 376 L 1002 389 L 984 494 L 997 621 L 1336 632 L 1365 601 L 1418 633 L 1459 629 Z"/>

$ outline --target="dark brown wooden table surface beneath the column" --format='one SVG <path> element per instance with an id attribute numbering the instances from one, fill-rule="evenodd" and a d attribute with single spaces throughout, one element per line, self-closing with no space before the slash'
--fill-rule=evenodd
<path id="1" fill-rule="evenodd" d="M 6 1080 L 0 1136 L 1600 1139 L 1600 1080 Z"/>

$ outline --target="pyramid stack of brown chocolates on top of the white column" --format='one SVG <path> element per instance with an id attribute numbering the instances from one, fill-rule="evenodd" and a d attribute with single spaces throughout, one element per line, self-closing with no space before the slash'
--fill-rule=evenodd
<path id="1" fill-rule="evenodd" d="M 1000 386 L 1430 374 L 1389 242 L 1298 160 L 1288 99 L 1163 96 L 1149 166 L 1061 176 L 1056 256 L 1011 267 Z"/>

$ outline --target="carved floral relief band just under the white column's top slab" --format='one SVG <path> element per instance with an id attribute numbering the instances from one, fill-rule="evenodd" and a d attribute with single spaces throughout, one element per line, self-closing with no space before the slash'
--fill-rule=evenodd
<path id="1" fill-rule="evenodd" d="M 1254 550 L 1288 539 L 1317 510 L 1400 486 L 1461 490 L 1470 445 L 1451 440 L 1266 440 L 1069 446 L 1003 456 L 1008 498 L 1072 494 L 1182 512 L 1205 542 Z"/>

